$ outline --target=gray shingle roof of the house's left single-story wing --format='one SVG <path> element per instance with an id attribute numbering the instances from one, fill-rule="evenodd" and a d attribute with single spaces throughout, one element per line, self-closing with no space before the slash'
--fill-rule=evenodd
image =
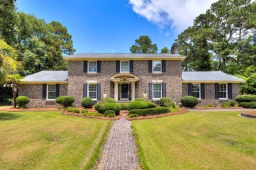
<path id="1" fill-rule="evenodd" d="M 24 82 L 67 82 L 68 71 L 40 71 L 26 76 Z"/>

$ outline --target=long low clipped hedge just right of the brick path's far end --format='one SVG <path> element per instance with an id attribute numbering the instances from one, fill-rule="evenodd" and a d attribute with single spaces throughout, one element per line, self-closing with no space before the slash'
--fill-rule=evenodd
<path id="1" fill-rule="evenodd" d="M 150 109 L 133 109 L 129 110 L 129 114 L 138 114 L 139 116 L 148 116 L 155 114 L 164 114 L 170 112 L 168 107 L 156 107 Z"/>

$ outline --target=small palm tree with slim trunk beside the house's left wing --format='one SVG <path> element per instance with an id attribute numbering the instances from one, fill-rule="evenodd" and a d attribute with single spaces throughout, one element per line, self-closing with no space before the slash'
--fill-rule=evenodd
<path id="1" fill-rule="evenodd" d="M 22 79 L 24 77 L 20 76 L 19 74 L 14 75 L 7 75 L 5 80 L 7 84 L 11 84 L 12 87 L 12 97 L 13 97 L 13 107 L 16 108 L 16 98 L 17 98 L 17 92 L 20 89 L 20 84 L 22 84 Z"/>

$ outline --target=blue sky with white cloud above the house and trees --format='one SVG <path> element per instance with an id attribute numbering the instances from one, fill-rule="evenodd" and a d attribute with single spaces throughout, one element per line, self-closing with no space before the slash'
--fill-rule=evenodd
<path id="1" fill-rule="evenodd" d="M 140 35 L 171 45 L 215 0 L 17 0 L 18 11 L 68 28 L 75 54 L 129 53 Z"/>

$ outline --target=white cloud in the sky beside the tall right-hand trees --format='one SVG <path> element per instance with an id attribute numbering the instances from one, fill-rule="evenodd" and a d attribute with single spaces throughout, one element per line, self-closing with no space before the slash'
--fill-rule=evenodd
<path id="1" fill-rule="evenodd" d="M 133 11 L 158 25 L 171 26 L 179 33 L 193 24 L 217 0 L 129 0 Z"/>

